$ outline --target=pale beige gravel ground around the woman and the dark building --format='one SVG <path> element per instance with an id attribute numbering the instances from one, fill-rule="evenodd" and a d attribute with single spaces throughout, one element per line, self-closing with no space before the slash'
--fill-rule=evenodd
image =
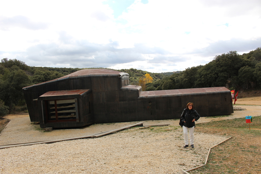
<path id="1" fill-rule="evenodd" d="M 234 111 L 228 117 L 201 117 L 197 123 L 258 116 L 261 106 L 242 108 L 247 110 Z M 80 137 L 138 123 L 94 124 L 42 132 L 37 130 L 38 125 L 31 124 L 28 115 L 5 118 L 11 121 L 0 135 L 0 145 Z M 178 121 L 143 121 L 144 126 L 170 126 L 151 127 L 154 130 L 135 127 L 98 138 L 0 149 L 0 173 L 182 173 L 204 164 L 209 148 L 227 139 L 195 133 L 195 148 L 183 148 Z"/>

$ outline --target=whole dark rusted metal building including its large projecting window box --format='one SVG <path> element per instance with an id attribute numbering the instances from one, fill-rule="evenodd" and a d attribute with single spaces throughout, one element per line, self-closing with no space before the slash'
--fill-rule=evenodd
<path id="1" fill-rule="evenodd" d="M 23 88 L 31 122 L 41 128 L 93 123 L 180 118 L 188 102 L 200 116 L 233 113 L 225 87 L 142 91 L 129 75 L 106 69 L 84 69 Z"/>

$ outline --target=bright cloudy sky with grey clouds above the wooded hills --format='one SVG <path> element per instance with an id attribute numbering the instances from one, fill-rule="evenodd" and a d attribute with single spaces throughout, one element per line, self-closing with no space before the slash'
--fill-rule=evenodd
<path id="1" fill-rule="evenodd" d="M 161 73 L 261 47 L 260 0 L 8 0 L 0 59 Z"/>

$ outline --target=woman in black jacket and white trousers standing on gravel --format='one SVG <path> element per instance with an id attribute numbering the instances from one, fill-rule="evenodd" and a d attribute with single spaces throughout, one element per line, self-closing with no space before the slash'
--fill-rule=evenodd
<path id="1" fill-rule="evenodd" d="M 183 110 L 181 114 L 181 120 L 183 122 L 183 133 L 185 146 L 184 148 L 189 147 L 189 139 L 190 145 L 194 148 L 194 128 L 195 121 L 200 118 L 200 115 L 196 110 L 193 109 L 193 103 L 188 103 L 186 109 Z M 189 139 L 188 139 L 188 131 L 189 131 Z"/>

